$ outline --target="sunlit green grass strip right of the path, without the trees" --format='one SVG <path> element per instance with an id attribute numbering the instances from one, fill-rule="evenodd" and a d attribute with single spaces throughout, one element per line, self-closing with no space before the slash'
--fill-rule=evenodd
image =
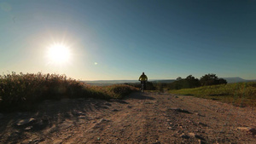
<path id="1" fill-rule="evenodd" d="M 220 84 L 195 89 L 170 90 L 169 92 L 223 101 L 239 107 L 256 107 L 256 83 Z"/>

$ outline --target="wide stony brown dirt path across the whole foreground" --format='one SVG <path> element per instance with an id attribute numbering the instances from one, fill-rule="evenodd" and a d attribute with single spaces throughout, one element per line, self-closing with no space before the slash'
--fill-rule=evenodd
<path id="1" fill-rule="evenodd" d="M 192 96 L 146 92 L 39 107 L 0 115 L 0 143 L 256 143 L 255 109 Z"/>

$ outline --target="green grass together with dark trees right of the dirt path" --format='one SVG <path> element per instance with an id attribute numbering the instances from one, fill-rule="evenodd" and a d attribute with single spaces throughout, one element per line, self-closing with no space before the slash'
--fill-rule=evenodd
<path id="1" fill-rule="evenodd" d="M 193 95 L 195 97 L 232 103 L 238 107 L 256 107 L 256 83 L 227 84 L 223 78 L 209 73 L 200 79 L 189 75 L 187 78 L 178 77 L 176 81 L 165 84 L 154 84 L 154 89 L 160 92 L 168 91 L 177 95 Z"/>

